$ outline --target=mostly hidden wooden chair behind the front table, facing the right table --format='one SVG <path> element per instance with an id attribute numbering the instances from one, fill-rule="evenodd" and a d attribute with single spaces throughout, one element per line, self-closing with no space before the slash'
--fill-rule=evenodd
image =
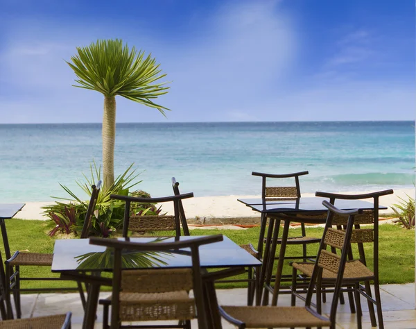
<path id="1" fill-rule="evenodd" d="M 173 193 L 175 195 L 179 195 L 179 182 L 176 181 L 175 177 L 172 177 L 172 188 L 173 188 Z M 188 230 L 188 225 L 187 225 L 187 218 L 185 217 L 185 212 L 184 212 L 184 208 L 182 205 L 182 202 L 180 203 L 180 217 L 181 217 L 181 222 L 182 222 L 182 227 L 184 228 L 184 232 L 188 232 L 189 235 L 189 230 Z M 186 229 L 185 229 L 186 227 Z M 185 233 L 185 235 L 187 235 Z M 254 246 L 252 244 L 241 244 L 240 245 L 241 248 L 243 248 L 245 251 L 247 251 L 248 253 L 250 253 L 251 255 L 253 255 L 255 258 L 259 257 L 259 253 L 257 252 L 257 250 L 254 248 Z M 255 282 L 255 276 L 254 276 L 254 271 L 259 271 L 258 268 L 256 269 L 252 269 L 252 267 L 249 267 L 247 269 L 247 273 L 248 273 L 248 278 L 247 279 L 227 279 L 227 280 L 218 280 L 217 282 L 248 282 L 248 292 L 247 292 L 247 305 L 252 305 L 253 304 L 253 300 L 254 300 L 254 292 L 256 289 L 256 282 Z M 257 273 L 259 274 L 259 273 Z M 257 277 L 259 277 L 259 275 L 257 275 Z"/>

